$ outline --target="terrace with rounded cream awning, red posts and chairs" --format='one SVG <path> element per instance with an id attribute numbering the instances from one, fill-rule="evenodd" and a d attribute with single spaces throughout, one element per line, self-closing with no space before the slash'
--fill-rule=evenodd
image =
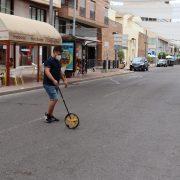
<path id="1" fill-rule="evenodd" d="M 18 23 L 18 25 L 17 25 Z M 12 79 L 29 76 L 40 81 L 44 47 L 61 44 L 56 29 L 43 22 L 0 13 L 0 74 L 1 81 L 10 85 Z M 22 80 L 23 82 L 23 80 Z"/>

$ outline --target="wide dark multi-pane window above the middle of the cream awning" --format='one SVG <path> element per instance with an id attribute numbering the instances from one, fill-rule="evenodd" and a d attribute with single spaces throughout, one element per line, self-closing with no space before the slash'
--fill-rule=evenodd
<path id="1" fill-rule="evenodd" d="M 30 18 L 42 22 L 46 22 L 46 10 L 30 6 Z"/>

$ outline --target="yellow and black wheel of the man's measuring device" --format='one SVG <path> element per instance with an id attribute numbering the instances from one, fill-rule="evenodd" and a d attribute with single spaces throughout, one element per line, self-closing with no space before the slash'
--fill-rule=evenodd
<path id="1" fill-rule="evenodd" d="M 64 122 L 69 129 L 76 129 L 79 126 L 79 117 L 76 114 L 68 114 Z"/>

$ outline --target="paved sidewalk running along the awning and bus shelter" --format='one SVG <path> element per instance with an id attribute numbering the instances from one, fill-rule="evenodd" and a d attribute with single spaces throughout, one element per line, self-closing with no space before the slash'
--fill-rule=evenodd
<path id="1" fill-rule="evenodd" d="M 68 83 L 73 84 L 76 82 L 100 79 L 100 78 L 111 77 L 111 76 L 127 74 L 127 73 L 130 73 L 130 71 L 126 69 L 113 69 L 113 70 L 109 70 L 107 73 L 102 72 L 101 69 L 96 69 L 95 72 L 89 70 L 86 75 L 80 74 L 80 75 L 76 75 L 76 77 L 69 78 Z M 43 87 L 42 82 L 25 83 L 23 86 L 18 85 L 18 86 L 0 87 L 0 96 L 7 94 L 14 94 L 18 92 L 31 91 L 35 89 L 41 89 L 42 87 Z"/>

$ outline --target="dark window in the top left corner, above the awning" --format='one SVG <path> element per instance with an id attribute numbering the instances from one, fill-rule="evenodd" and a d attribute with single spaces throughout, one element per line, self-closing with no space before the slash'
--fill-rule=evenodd
<path id="1" fill-rule="evenodd" d="M 13 14 L 12 0 L 0 0 L 0 11 L 6 14 Z"/>

